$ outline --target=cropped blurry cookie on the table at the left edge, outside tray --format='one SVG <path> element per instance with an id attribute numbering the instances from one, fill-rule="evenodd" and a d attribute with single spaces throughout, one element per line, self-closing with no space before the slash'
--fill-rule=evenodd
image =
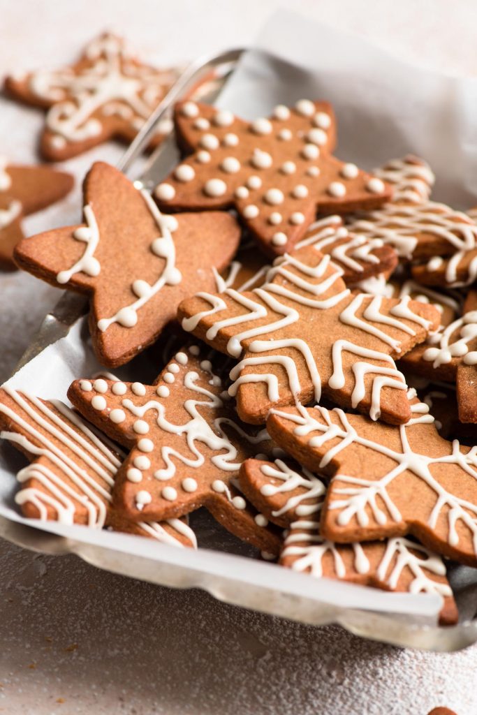
<path id="1" fill-rule="evenodd" d="M 0 157 L 0 267 L 14 269 L 13 251 L 23 238 L 21 219 L 65 197 L 71 174 L 50 167 L 10 164 Z"/>

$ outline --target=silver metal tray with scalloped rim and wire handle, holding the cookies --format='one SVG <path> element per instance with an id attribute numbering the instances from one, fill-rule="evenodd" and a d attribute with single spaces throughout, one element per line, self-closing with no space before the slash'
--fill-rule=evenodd
<path id="1" fill-rule="evenodd" d="M 201 78 L 201 99 L 213 102 L 240 61 L 243 50 L 230 50 L 195 62 L 187 68 L 164 98 L 147 124 L 119 162 L 132 174 L 157 122 L 170 111 L 173 102 Z M 242 57 L 243 59 L 243 57 Z M 170 137 L 149 157 L 137 185 L 151 187 L 177 161 L 174 139 Z M 29 389 L 32 376 L 44 365 L 67 365 L 64 375 L 55 370 L 42 372 L 44 396 L 65 398 L 68 375 L 71 379 L 91 374 L 101 367 L 95 363 L 87 341 L 84 297 L 65 292 L 44 318 L 36 338 L 21 358 L 9 383 Z M 65 358 L 66 356 L 66 358 Z M 160 367 L 160 366 L 159 366 Z M 130 368 L 129 368 L 130 369 Z M 127 378 L 127 366 L 123 377 Z M 89 372 L 88 372 L 89 371 Z M 156 366 L 155 373 L 158 373 Z M 192 515 L 192 527 L 199 536 L 198 551 L 178 549 L 153 540 L 84 526 L 64 526 L 55 522 L 26 520 L 14 506 L 16 470 L 23 464 L 10 445 L 0 448 L 0 535 L 32 551 L 61 555 L 76 553 L 107 571 L 175 588 L 200 587 L 212 596 L 237 606 L 283 616 L 304 623 L 340 623 L 349 631 L 397 646 L 435 651 L 461 649 L 477 641 L 477 621 L 473 598 L 468 598 L 476 571 L 465 567 L 451 570 L 456 600 L 466 620 L 457 626 L 436 625 L 441 598 L 431 594 L 398 594 L 355 586 L 350 583 L 315 579 L 257 559 L 255 551 L 210 523 L 207 514 Z"/>

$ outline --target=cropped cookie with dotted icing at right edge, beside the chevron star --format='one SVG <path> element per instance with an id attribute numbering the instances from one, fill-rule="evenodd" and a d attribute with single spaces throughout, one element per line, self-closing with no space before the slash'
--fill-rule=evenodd
<path id="1" fill-rule="evenodd" d="M 463 313 L 441 325 L 403 358 L 403 364 L 429 380 L 457 385 L 459 420 L 477 422 L 477 291 L 468 292 Z"/>

